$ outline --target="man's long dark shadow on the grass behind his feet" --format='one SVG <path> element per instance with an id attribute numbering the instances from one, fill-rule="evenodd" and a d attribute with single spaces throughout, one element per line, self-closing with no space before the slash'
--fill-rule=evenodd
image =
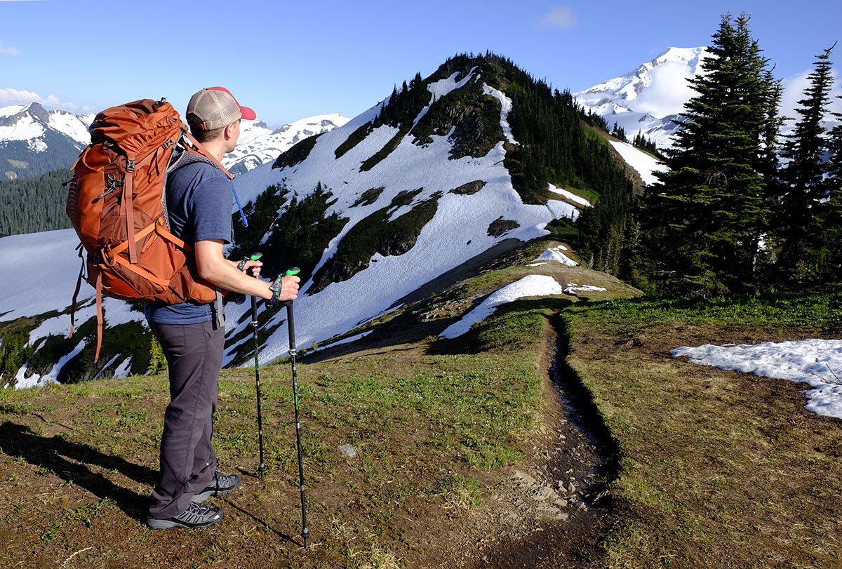
<path id="1" fill-rule="evenodd" d="M 146 466 L 104 455 L 87 444 L 72 443 L 59 436 L 41 437 L 29 427 L 8 421 L 0 425 L 0 449 L 5 455 L 48 469 L 62 480 L 72 481 L 99 498 L 112 500 L 131 518 L 146 521 L 149 497 L 117 486 L 101 474 L 92 472 L 87 465 L 98 465 L 108 471 L 118 471 L 141 484 L 154 485 L 158 473 Z"/>

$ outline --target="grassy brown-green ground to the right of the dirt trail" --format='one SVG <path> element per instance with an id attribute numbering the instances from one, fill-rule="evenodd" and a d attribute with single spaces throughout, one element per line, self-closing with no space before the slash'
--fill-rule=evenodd
<path id="1" fill-rule="evenodd" d="M 830 337 L 829 295 L 616 301 L 565 314 L 568 361 L 619 440 L 608 566 L 839 566 L 842 421 L 803 386 L 690 364 L 682 345 Z"/>

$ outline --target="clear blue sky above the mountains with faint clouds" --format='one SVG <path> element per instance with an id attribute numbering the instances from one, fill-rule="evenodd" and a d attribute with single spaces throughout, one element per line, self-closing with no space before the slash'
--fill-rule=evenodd
<path id="1" fill-rule="evenodd" d="M 557 88 L 589 88 L 669 46 L 707 45 L 747 12 L 775 76 L 802 77 L 842 40 L 842 3 L 365 0 L 0 0 L 0 106 L 75 112 L 223 85 L 258 119 L 354 116 L 448 56 L 491 50 Z M 157 10 L 157 13 L 154 12 Z M 842 69 L 842 45 L 833 61 Z"/>

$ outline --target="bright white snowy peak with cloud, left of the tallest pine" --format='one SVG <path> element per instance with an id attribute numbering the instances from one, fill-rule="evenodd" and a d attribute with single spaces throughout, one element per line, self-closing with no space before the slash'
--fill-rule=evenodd
<path id="1" fill-rule="evenodd" d="M 640 132 L 658 147 L 669 147 L 673 120 L 693 95 L 687 79 L 699 75 L 701 61 L 709 56 L 705 47 L 670 47 L 634 71 L 573 96 L 609 128 L 621 126 L 629 139 Z"/>

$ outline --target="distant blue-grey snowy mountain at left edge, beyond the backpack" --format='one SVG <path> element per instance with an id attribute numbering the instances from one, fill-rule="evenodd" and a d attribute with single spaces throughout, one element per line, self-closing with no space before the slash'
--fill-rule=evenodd
<path id="1" fill-rule="evenodd" d="M 93 114 L 47 110 L 38 103 L 0 108 L 0 176 L 37 176 L 69 168 L 90 141 Z"/>

